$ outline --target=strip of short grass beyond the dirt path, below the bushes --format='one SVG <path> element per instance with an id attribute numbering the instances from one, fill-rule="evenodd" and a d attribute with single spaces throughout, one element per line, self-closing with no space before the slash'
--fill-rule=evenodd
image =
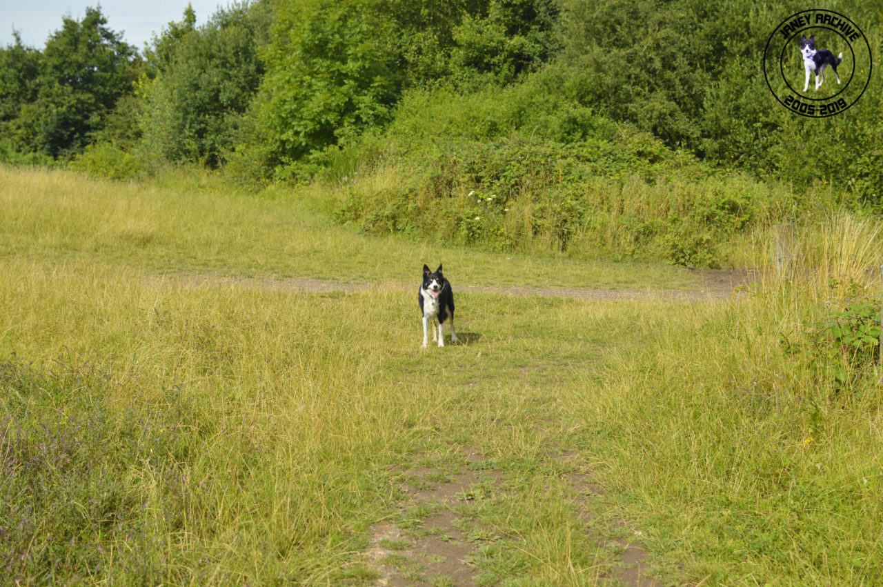
<path id="1" fill-rule="evenodd" d="M 154 273 L 317 277 L 412 284 L 423 263 L 443 262 L 457 283 L 699 289 L 679 267 L 626 266 L 440 249 L 362 237 L 310 207 L 316 194 L 223 194 L 204 177 L 185 191 L 140 184 L 82 184 L 74 175 L 0 169 L 6 189 L 4 250 L 34 259 L 101 260 Z M 223 194 L 223 195 L 222 195 Z M 65 213 L 65 214 L 63 214 Z"/>

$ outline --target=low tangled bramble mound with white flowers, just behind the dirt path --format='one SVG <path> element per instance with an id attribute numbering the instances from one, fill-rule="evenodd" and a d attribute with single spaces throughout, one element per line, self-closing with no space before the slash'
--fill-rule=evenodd
<path id="1" fill-rule="evenodd" d="M 710 171 L 643 132 L 566 144 L 516 133 L 384 157 L 329 176 L 341 222 L 495 251 L 714 267 L 733 261 L 740 232 L 793 211 L 790 192 Z"/>

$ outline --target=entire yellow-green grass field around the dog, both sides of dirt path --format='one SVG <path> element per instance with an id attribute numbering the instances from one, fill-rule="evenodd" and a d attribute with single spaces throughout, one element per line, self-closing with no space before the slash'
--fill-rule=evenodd
<path id="1" fill-rule="evenodd" d="M 0 185 L 8 583 L 374 584 L 406 566 L 370 560 L 378 525 L 416 539 L 442 511 L 482 585 L 616 584 L 623 538 L 661 584 L 883 572 L 879 367 L 838 385 L 807 326 L 879 291 L 875 224 L 801 228 L 792 279 L 726 299 L 462 292 L 463 342 L 421 350 L 402 288 L 424 262 L 455 290 L 701 286 L 360 236 L 314 211 L 321 187 L 7 168 Z M 264 282 L 291 277 L 371 290 Z M 464 470 L 451 500 L 407 506 L 415 477 Z"/>

